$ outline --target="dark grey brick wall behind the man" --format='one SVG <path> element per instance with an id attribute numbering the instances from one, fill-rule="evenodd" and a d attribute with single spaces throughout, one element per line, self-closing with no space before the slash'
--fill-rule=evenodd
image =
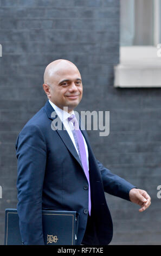
<path id="1" fill-rule="evenodd" d="M 48 63 L 64 58 L 82 75 L 76 110 L 110 111 L 110 135 L 88 131 L 96 157 L 113 173 L 149 192 L 145 212 L 106 194 L 114 236 L 111 244 L 161 244 L 160 89 L 116 89 L 119 63 L 119 0 L 0 0 L 0 243 L 4 210 L 16 208 L 15 141 L 47 98 L 42 89 Z"/>

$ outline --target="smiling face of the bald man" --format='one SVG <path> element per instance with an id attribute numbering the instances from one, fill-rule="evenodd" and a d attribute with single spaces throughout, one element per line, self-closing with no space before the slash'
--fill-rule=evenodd
<path id="1" fill-rule="evenodd" d="M 50 77 L 48 99 L 63 109 L 72 111 L 82 99 L 82 81 L 79 70 L 71 64 L 61 63 L 56 66 Z"/>

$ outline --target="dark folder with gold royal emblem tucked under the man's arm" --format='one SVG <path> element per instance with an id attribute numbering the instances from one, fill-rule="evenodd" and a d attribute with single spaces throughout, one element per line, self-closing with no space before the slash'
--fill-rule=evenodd
<path id="1" fill-rule="evenodd" d="M 42 210 L 45 245 L 75 245 L 78 224 L 76 211 Z M 17 209 L 5 209 L 4 245 L 22 245 Z"/>

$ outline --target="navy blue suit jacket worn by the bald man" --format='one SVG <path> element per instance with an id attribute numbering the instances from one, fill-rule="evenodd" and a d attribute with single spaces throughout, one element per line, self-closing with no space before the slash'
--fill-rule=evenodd
<path id="1" fill-rule="evenodd" d="M 17 211 L 24 245 L 44 245 L 42 209 L 74 210 L 80 214 L 78 240 L 85 234 L 88 212 L 88 181 L 66 130 L 51 129 L 54 111 L 49 101 L 23 127 L 16 141 Z M 56 118 L 56 116 L 55 116 Z M 63 126 L 62 126 L 63 127 Z M 91 184 L 91 234 L 86 244 L 108 245 L 113 226 L 105 192 L 129 199 L 134 186 L 114 175 L 95 159 L 87 132 L 82 130 L 89 153 Z"/>

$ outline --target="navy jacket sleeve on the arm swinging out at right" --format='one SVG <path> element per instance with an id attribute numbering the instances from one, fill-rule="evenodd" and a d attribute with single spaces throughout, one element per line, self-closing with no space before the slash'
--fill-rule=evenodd
<path id="1" fill-rule="evenodd" d="M 132 188 L 137 188 L 128 181 L 120 178 L 118 175 L 115 175 L 110 172 L 107 168 L 103 166 L 98 160 L 96 160 L 99 166 L 99 170 L 102 176 L 102 182 L 104 185 L 104 191 L 106 193 L 112 194 L 123 199 L 130 201 L 129 192 Z"/>

